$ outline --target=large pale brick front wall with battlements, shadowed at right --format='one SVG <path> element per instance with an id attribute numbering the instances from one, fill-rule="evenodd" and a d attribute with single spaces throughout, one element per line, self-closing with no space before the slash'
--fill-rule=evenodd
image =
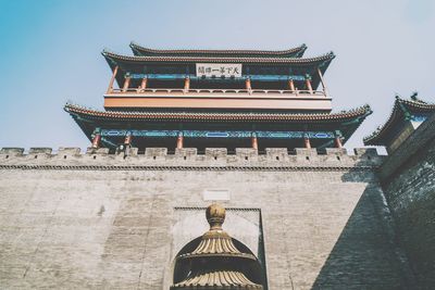
<path id="1" fill-rule="evenodd" d="M 0 285 L 167 289 L 181 244 L 207 229 L 204 190 L 220 189 L 234 209 L 224 229 L 263 247 L 269 289 L 413 289 L 382 160 L 364 149 L 2 149 Z"/>

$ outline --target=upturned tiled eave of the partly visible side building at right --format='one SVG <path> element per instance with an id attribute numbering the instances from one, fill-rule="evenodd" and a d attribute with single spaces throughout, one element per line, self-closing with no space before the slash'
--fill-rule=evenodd
<path id="1" fill-rule="evenodd" d="M 380 126 L 371 135 L 363 138 L 364 146 L 385 146 L 384 137 L 388 135 L 388 131 L 393 128 L 394 124 L 398 122 L 398 118 L 400 118 L 406 113 L 403 112 L 403 108 L 410 113 L 435 113 L 435 104 L 425 103 L 422 101 L 403 100 L 399 97 L 396 97 L 396 101 L 394 103 L 388 119 L 384 123 L 384 125 Z"/>

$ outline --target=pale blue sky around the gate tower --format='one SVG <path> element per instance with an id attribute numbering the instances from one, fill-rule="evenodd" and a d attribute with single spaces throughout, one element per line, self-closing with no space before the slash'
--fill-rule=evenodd
<path id="1" fill-rule="evenodd" d="M 324 78 L 334 111 L 370 104 L 346 147 L 362 147 L 395 94 L 435 102 L 434 0 L 0 0 L 0 148 L 89 141 L 66 101 L 103 109 L 101 51 L 288 49 L 337 55 Z"/>

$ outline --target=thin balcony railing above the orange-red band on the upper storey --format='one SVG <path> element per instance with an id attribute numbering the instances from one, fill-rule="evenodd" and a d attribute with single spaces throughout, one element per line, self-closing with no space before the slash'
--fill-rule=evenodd
<path id="1" fill-rule="evenodd" d="M 108 94 L 120 94 L 120 93 L 137 93 L 137 94 L 312 94 L 312 96 L 322 96 L 326 97 L 325 91 L 323 90 L 260 90 L 260 89 L 137 89 L 137 88 L 128 88 L 128 89 L 111 89 Z"/>

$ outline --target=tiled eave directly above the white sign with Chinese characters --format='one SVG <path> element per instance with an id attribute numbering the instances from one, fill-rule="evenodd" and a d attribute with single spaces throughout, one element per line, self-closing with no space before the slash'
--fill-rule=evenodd
<path id="1" fill-rule="evenodd" d="M 319 63 L 331 62 L 334 52 L 324 55 L 307 59 L 288 59 L 288 58 L 209 58 L 209 56 L 132 56 L 116 54 L 107 50 L 102 51 L 102 55 L 110 62 L 130 62 L 130 63 L 259 63 L 259 64 L 295 64 L 295 65 L 314 65 Z"/>

